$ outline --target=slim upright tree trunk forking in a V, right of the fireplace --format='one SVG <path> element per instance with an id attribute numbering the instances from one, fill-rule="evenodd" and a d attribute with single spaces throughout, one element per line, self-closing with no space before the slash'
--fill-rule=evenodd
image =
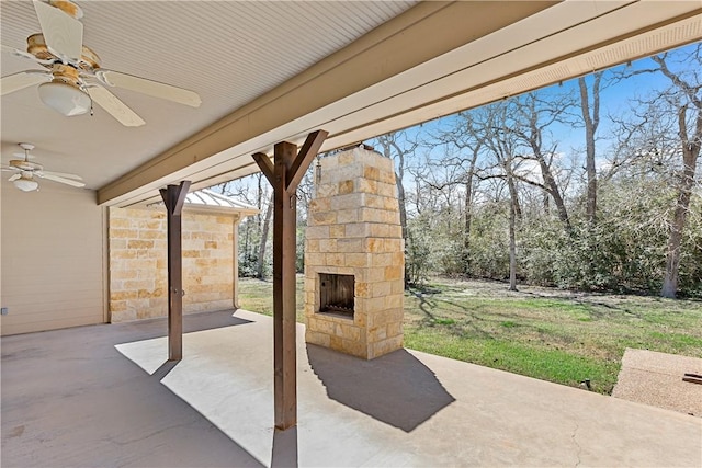
<path id="1" fill-rule="evenodd" d="M 590 224 L 597 218 L 597 170 L 595 165 L 595 133 L 600 123 L 600 79 L 602 72 L 595 73 L 592 82 L 592 114 L 590 115 L 590 100 L 585 78 L 578 78 L 580 87 L 580 110 L 585 123 L 586 160 L 585 170 L 588 180 L 587 217 Z"/>

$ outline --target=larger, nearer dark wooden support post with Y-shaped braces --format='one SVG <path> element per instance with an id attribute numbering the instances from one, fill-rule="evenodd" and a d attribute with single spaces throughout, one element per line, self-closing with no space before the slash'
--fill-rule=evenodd
<path id="1" fill-rule="evenodd" d="M 273 390 L 275 427 L 279 430 L 297 424 L 296 192 L 327 135 L 325 130 L 309 134 L 297 155 L 295 145 L 276 144 L 274 163 L 263 153 L 253 155 L 273 186 Z"/>

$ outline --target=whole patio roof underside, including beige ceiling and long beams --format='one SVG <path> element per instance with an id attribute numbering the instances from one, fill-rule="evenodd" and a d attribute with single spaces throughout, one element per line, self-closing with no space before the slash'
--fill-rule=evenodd
<path id="1" fill-rule="evenodd" d="M 80 3 L 80 2 L 79 2 Z M 699 1 L 84 1 L 105 68 L 197 92 L 199 109 L 114 93 L 146 125 L 102 110 L 66 118 L 36 89 L 2 98 L 2 162 L 27 141 L 98 203 L 157 199 L 258 170 L 251 153 L 330 133 L 322 150 L 702 38 Z M 39 31 L 31 2 L 0 4 L 2 44 Z M 35 68 L 2 55 L 2 76 Z"/>

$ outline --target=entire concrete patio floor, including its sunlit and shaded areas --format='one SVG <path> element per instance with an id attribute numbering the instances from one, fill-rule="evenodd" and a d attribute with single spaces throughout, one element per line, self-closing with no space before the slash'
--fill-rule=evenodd
<path id="1" fill-rule="evenodd" d="M 702 466 L 702 420 L 400 350 L 305 345 L 273 431 L 272 321 L 188 316 L 2 339 L 2 466 Z"/>

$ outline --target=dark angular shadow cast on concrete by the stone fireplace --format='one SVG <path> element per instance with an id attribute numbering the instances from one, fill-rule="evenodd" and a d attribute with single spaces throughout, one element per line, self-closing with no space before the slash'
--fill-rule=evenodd
<path id="1" fill-rule="evenodd" d="M 405 350 L 364 361 L 307 344 L 307 356 L 329 398 L 405 432 L 455 401 Z"/>

